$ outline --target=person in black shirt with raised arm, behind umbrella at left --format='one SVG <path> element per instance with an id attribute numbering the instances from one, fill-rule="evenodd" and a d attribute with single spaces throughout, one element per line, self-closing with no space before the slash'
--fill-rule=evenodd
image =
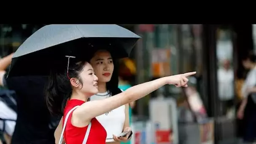
<path id="1" fill-rule="evenodd" d="M 0 60 L 0 66 L 11 63 L 11 56 Z M 14 90 L 17 96 L 17 120 L 11 144 L 55 144 L 53 117 L 48 111 L 44 86 L 47 77 L 8 77 L 0 67 L 0 85 Z"/>

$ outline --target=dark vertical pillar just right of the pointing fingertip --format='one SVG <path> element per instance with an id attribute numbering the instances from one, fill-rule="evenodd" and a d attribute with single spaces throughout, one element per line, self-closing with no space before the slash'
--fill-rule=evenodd
<path id="1" fill-rule="evenodd" d="M 220 128 L 216 123 L 218 112 L 216 25 L 203 25 L 203 94 L 208 98 L 208 114 L 214 117 L 214 142 L 219 140 Z"/>

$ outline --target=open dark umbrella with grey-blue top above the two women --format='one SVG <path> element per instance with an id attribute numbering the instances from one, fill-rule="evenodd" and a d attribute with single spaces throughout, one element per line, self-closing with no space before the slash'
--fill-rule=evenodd
<path id="1" fill-rule="evenodd" d="M 96 48 L 114 57 L 129 56 L 138 35 L 116 24 L 51 24 L 27 38 L 14 53 L 8 77 L 48 75 L 55 61 L 65 56 L 83 59 Z"/>

